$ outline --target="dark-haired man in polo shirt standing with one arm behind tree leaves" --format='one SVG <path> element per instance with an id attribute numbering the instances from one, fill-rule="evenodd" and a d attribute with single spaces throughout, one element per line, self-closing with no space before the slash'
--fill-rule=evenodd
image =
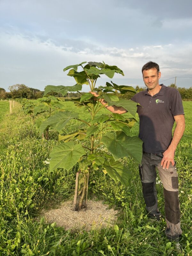
<path id="1" fill-rule="evenodd" d="M 143 140 L 143 156 L 139 166 L 143 197 L 149 217 L 159 220 L 157 207 L 156 168 L 164 187 L 165 234 L 170 241 L 179 241 L 180 228 L 179 183 L 174 153 L 185 129 L 184 111 L 180 93 L 172 87 L 159 85 L 161 72 L 155 62 L 142 68 L 147 90 L 137 93 L 132 100 L 140 103 L 137 112 L 140 119 L 139 138 Z M 92 93 L 96 96 L 95 93 Z M 107 102 L 100 100 L 104 105 Z M 123 114 L 124 108 L 106 106 L 114 113 Z M 172 127 L 176 128 L 172 138 Z"/>

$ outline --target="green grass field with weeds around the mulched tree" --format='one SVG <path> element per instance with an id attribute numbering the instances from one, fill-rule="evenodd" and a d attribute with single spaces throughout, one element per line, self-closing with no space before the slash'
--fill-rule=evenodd
<path id="1" fill-rule="evenodd" d="M 66 109 L 78 111 L 80 118 L 89 115 L 72 102 Z M 176 150 L 175 160 L 179 172 L 182 252 L 174 249 L 174 243 L 166 240 L 164 218 L 159 222 L 148 219 L 142 197 L 137 164 L 125 157 L 122 162 L 132 172 L 128 187 L 114 182 L 103 173 L 90 175 L 89 196 L 104 200 L 119 210 L 114 227 L 72 232 L 46 224 L 35 216 L 47 204 L 72 199 L 75 172 L 57 170 L 49 172 L 52 148 L 57 143 L 57 133 L 50 131 L 51 140 L 39 138 L 29 116 L 23 114 L 19 105 L 9 114 L 9 102 L 0 102 L 0 256 L 44 255 L 192 255 L 192 102 L 183 102 L 186 130 Z M 103 112 L 108 111 L 106 109 Z M 128 115 L 128 114 L 126 114 Z M 72 120 L 66 129 L 70 132 L 80 128 Z M 138 135 L 139 124 L 131 130 Z M 99 151 L 104 150 L 102 147 Z M 163 187 L 157 180 L 159 209 L 164 215 Z"/>

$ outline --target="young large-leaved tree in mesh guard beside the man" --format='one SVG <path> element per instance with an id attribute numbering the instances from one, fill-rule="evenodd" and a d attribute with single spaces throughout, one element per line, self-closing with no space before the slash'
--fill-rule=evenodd
<path id="1" fill-rule="evenodd" d="M 111 83 L 106 83 L 106 86 L 96 88 L 96 81 L 101 75 L 106 75 L 111 79 L 115 73 L 122 76 L 124 76 L 124 73 L 117 66 L 109 66 L 104 62 L 85 63 L 82 62 L 64 68 L 64 71 L 69 69 L 68 76 L 72 76 L 76 80 L 74 86 L 47 85 L 44 95 L 53 91 L 64 96 L 68 91 L 81 91 L 82 85 L 86 84 L 91 92 L 98 92 L 98 98 L 104 98 L 108 106 L 123 107 L 133 117 L 127 118 L 116 113 L 100 114 L 104 106 L 99 101 L 95 101 L 91 93 L 82 94 L 79 92 L 81 98 L 75 99 L 74 102 L 77 106 L 84 107 L 85 111 L 90 113 L 89 122 L 80 119 L 78 113 L 66 110 L 59 111 L 55 115 L 50 116 L 39 126 L 40 133 L 43 133 L 48 127 L 56 129 L 59 132 L 59 142 L 62 142 L 53 148 L 50 154 L 50 171 L 54 171 L 57 168 L 69 170 L 78 163 L 74 210 L 80 210 L 86 206 L 89 172 L 100 170 L 108 174 L 115 181 L 120 181 L 127 186 L 131 172 L 119 162 L 119 159 L 132 156 L 136 162 L 140 163 L 142 157 L 142 141 L 137 136 L 129 136 L 129 131 L 136 122 L 134 117 L 137 103 L 132 100 L 121 99 L 109 93 L 115 90 L 121 94 L 126 92 L 136 93 L 135 89 L 131 86 L 114 84 L 112 81 Z M 78 67 L 81 68 L 80 71 L 77 71 Z M 72 119 L 84 123 L 86 128 L 67 134 L 65 126 Z M 115 131 L 115 134 L 111 131 Z M 104 135 L 102 136 L 101 134 Z M 74 138 L 79 142 L 75 143 Z M 95 142 L 98 140 L 100 141 L 99 145 L 105 145 L 108 153 L 96 153 L 98 143 L 96 144 Z M 87 141 L 87 144 L 82 143 L 82 141 Z"/>

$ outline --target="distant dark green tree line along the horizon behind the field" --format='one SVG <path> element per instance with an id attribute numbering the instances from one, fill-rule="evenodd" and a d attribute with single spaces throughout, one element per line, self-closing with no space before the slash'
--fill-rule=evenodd
<path id="1" fill-rule="evenodd" d="M 185 88 L 185 87 L 177 87 L 175 84 L 170 84 L 170 87 L 175 87 L 181 95 L 182 100 L 192 100 L 192 87 Z M 15 99 L 15 98 L 26 98 L 26 99 L 38 99 L 42 98 L 44 95 L 44 91 L 40 91 L 38 89 L 30 88 L 26 86 L 25 84 L 14 84 L 8 87 L 10 92 L 6 92 L 4 88 L 0 88 L 0 99 Z M 139 87 L 136 86 L 137 92 L 141 92 L 146 90 L 146 87 Z M 125 94 L 120 94 L 117 91 L 113 93 L 114 95 L 117 95 L 120 98 L 130 100 L 134 93 L 132 92 L 126 92 Z M 60 93 L 57 92 L 50 92 L 47 95 L 52 95 L 55 97 L 63 97 Z M 64 98 L 79 98 L 80 94 L 78 92 L 69 92 L 67 93 Z"/>

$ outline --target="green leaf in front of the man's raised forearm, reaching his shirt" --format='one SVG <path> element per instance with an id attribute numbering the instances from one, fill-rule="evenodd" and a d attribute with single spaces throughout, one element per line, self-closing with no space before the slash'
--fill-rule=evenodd
<path id="1" fill-rule="evenodd" d="M 137 112 L 137 102 L 134 102 L 133 100 L 122 100 L 119 99 L 119 101 L 108 101 L 108 106 L 117 106 L 117 107 L 123 107 L 127 111 L 129 111 L 133 116 L 135 116 Z"/>

